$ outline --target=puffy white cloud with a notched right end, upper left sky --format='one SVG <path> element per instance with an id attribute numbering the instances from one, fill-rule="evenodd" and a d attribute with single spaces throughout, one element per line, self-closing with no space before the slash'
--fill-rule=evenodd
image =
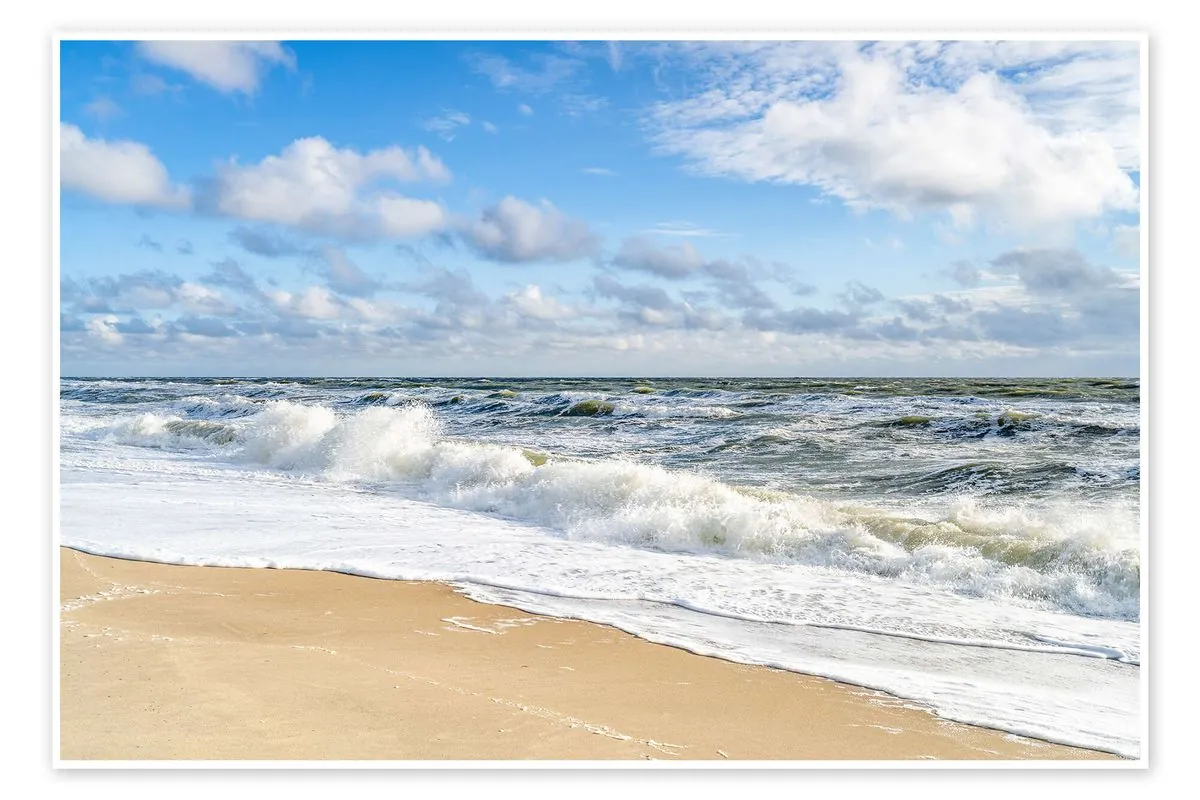
<path id="1" fill-rule="evenodd" d="M 450 173 L 425 148 L 360 154 L 320 137 L 296 139 L 257 164 L 217 168 L 204 201 L 215 213 L 358 239 L 407 237 L 437 230 L 445 211 L 433 200 L 368 186 L 380 180 L 444 181 Z"/>

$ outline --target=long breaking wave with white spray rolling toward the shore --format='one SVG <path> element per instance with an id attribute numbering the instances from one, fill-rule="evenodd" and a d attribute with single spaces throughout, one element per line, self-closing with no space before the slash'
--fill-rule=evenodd
<path id="1" fill-rule="evenodd" d="M 340 414 L 272 401 L 224 422 L 140 415 L 108 435 L 214 447 L 247 465 L 371 483 L 572 539 L 845 570 L 1073 613 L 1140 613 L 1138 551 L 1118 543 L 1126 521 L 1105 515 L 1049 518 L 961 500 L 919 519 L 616 458 L 451 439 L 424 404 Z"/>

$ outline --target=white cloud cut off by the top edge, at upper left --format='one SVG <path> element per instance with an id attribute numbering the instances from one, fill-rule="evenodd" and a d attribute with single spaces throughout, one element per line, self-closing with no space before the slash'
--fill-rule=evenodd
<path id="1" fill-rule="evenodd" d="M 253 95 L 271 67 L 296 66 L 295 55 L 278 42 L 138 42 L 137 49 L 145 60 L 186 72 L 226 94 Z"/>

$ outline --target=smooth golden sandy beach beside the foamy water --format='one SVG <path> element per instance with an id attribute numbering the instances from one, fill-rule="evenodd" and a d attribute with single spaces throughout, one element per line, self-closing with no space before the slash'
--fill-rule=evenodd
<path id="1" fill-rule="evenodd" d="M 436 583 L 60 564 L 64 760 L 1109 758 Z"/>

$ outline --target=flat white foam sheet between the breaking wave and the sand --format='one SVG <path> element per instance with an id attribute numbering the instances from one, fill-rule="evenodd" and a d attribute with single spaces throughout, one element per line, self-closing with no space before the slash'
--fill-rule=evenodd
<path id="1" fill-rule="evenodd" d="M 318 428 L 299 425 L 310 433 Z M 340 447 L 323 452 L 359 450 L 349 434 L 336 441 Z M 272 452 L 284 450 L 289 459 L 301 458 L 289 447 Z M 1126 756 L 1139 750 L 1139 668 L 1080 656 L 1135 661 L 1134 622 L 826 566 L 614 547 L 395 494 L 161 451 L 122 452 L 114 470 L 104 461 L 110 451 L 64 455 L 64 545 L 168 563 L 456 582 L 480 600 L 847 680 L 929 704 L 948 718 Z M 433 461 L 449 476 L 452 449 Z M 491 479 L 480 483 L 481 468 L 468 462 L 460 477 L 486 486 Z M 499 455 L 493 468 L 526 469 L 506 464 Z M 600 486 L 612 491 L 625 479 L 613 471 Z M 655 480 L 648 479 L 652 487 Z M 599 489 L 592 498 L 601 506 L 608 501 Z"/>

